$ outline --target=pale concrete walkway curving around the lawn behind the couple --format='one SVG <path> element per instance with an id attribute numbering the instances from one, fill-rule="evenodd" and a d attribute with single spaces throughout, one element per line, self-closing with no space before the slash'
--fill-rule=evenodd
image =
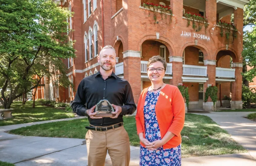
<path id="1" fill-rule="evenodd" d="M 221 128 L 232 134 L 233 139 L 247 148 L 249 153 L 182 158 L 182 165 L 256 165 L 256 122 L 243 118 L 249 113 L 251 112 L 196 113 L 211 117 Z M 3 132 L 34 124 L 79 118 L 83 117 L 0 127 L 0 160 L 15 163 L 16 166 L 86 166 L 88 162 L 84 139 L 18 136 Z M 105 166 L 112 166 L 109 155 L 106 156 Z M 131 146 L 130 166 L 139 166 L 137 147 Z"/>

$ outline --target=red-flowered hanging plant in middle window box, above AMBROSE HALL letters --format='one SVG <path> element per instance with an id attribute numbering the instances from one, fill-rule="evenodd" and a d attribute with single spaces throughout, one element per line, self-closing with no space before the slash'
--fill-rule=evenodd
<path id="1" fill-rule="evenodd" d="M 205 27 L 205 32 L 206 29 L 208 27 L 208 20 L 207 17 L 204 18 L 204 16 L 202 16 L 201 14 L 195 14 L 195 13 L 185 13 L 184 17 L 187 18 L 188 23 L 187 23 L 187 27 L 189 27 L 190 25 L 190 21 L 192 21 L 192 28 L 198 32 L 202 29 L 203 25 Z"/>

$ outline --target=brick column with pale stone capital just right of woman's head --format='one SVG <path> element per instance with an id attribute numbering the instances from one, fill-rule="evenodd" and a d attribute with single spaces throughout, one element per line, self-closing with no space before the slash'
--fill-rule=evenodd
<path id="1" fill-rule="evenodd" d="M 169 57 L 169 62 L 172 63 L 172 79 L 170 79 L 170 84 L 178 86 L 179 83 L 182 83 L 182 57 L 180 56 L 171 56 Z"/>

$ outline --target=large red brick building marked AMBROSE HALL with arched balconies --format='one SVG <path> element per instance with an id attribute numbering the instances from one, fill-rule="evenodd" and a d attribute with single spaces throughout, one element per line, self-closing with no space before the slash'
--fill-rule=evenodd
<path id="1" fill-rule="evenodd" d="M 247 0 L 55 0 L 74 12 L 68 18 L 70 41 L 75 41 L 76 58 L 65 59 L 68 76 L 74 84 L 56 89 L 45 84 L 44 97 L 58 101 L 73 100 L 80 81 L 100 69 L 97 56 L 106 44 L 116 50 L 116 75 L 132 86 L 137 103 L 141 90 L 150 85 L 146 64 L 153 55 L 168 63 L 164 82 L 189 87 L 189 108 L 214 110 L 209 97 L 203 102 L 206 88 L 218 87 L 217 106 L 242 108 L 243 7 Z M 172 15 L 150 11 L 141 5 L 150 2 L 171 7 Z M 185 13 L 207 17 L 208 27 L 194 30 L 187 26 Z M 154 13 L 156 21 L 154 20 Z M 237 28 L 237 37 L 221 37 L 219 20 Z M 196 22 L 197 23 L 197 22 Z M 224 28 L 225 29 L 225 28 Z M 47 78 L 45 78 L 47 79 Z M 45 80 L 45 82 L 47 82 Z M 46 90 L 47 89 L 47 90 Z M 49 93 L 48 93 L 49 91 Z M 57 93 L 58 92 L 58 93 Z M 41 93 L 41 94 L 42 94 Z M 226 96 L 226 99 L 224 99 Z M 228 97 L 232 98 L 230 102 Z M 221 102 L 220 102 L 221 100 Z"/>

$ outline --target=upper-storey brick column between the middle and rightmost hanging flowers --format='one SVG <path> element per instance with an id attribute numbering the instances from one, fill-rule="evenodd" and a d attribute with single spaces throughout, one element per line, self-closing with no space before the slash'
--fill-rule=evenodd
<path id="1" fill-rule="evenodd" d="M 206 17 L 210 24 L 216 24 L 217 19 L 217 2 L 216 0 L 205 1 Z"/>

